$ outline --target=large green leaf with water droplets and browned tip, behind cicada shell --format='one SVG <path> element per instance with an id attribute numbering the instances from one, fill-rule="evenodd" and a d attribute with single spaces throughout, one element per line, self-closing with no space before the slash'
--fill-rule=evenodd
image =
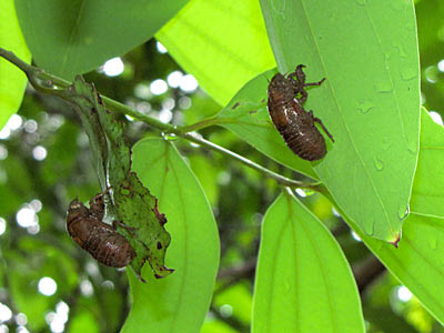
<path id="1" fill-rule="evenodd" d="M 281 72 L 303 63 L 335 143 L 313 168 L 366 234 L 394 242 L 418 154 L 420 79 L 412 1 L 261 0 Z M 327 140 L 329 141 L 329 140 Z"/>

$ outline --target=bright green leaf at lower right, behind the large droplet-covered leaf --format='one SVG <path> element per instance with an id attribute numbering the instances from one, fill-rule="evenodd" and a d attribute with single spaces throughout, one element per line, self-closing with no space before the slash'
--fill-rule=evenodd
<path id="1" fill-rule="evenodd" d="M 342 216 L 390 272 L 444 324 L 444 291 L 438 283 L 444 279 L 444 219 L 411 213 L 396 249 L 365 235 L 354 222 Z"/>

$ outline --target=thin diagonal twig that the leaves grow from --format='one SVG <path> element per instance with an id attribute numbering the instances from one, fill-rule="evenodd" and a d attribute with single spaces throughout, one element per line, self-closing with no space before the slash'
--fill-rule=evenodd
<path id="1" fill-rule="evenodd" d="M 46 87 L 43 83 L 46 81 L 49 81 L 51 85 L 53 84 L 59 88 L 68 88 L 69 85 L 71 85 L 71 82 L 65 81 L 56 75 L 49 74 L 40 68 L 37 68 L 37 67 L 26 63 L 24 61 L 22 61 L 18 57 L 16 57 L 14 53 L 7 51 L 2 48 L 0 48 L 0 57 L 4 58 L 9 62 L 13 63 L 19 69 L 21 69 L 27 74 L 32 87 L 38 91 L 41 91 L 41 92 L 44 92 L 48 94 L 61 95 L 61 93 L 63 91 L 62 89 Z M 236 154 L 235 152 L 232 152 L 232 151 L 230 151 L 223 147 L 220 147 L 211 141 L 200 138 L 195 132 L 193 132 L 195 130 L 200 130 L 200 129 L 223 122 L 220 119 L 216 119 L 215 117 L 208 118 L 205 120 L 202 120 L 200 122 L 196 122 L 196 123 L 194 123 L 192 125 L 188 125 L 188 127 L 174 127 L 174 125 L 171 125 L 168 123 L 163 123 L 155 118 L 149 117 L 142 112 L 131 109 L 130 107 L 122 104 L 118 101 L 114 101 L 110 98 L 102 97 L 102 100 L 104 101 L 107 108 L 110 109 L 111 111 L 128 114 L 134 119 L 138 119 L 138 120 L 147 123 L 148 125 L 150 125 L 152 128 L 155 128 L 155 129 L 164 132 L 164 133 L 173 133 L 173 134 L 175 134 L 180 138 L 183 138 L 188 141 L 198 143 L 206 149 L 210 149 L 210 150 L 216 151 L 221 154 L 224 154 L 231 159 L 234 159 L 234 160 L 241 162 L 242 164 L 244 164 L 251 169 L 254 169 L 254 170 L 263 173 L 264 175 L 275 180 L 278 183 L 280 183 L 284 186 L 305 188 L 305 189 L 311 189 L 311 190 L 315 190 L 315 191 L 320 191 L 322 189 L 322 185 L 319 182 L 301 182 L 301 181 L 295 181 L 295 180 L 285 178 L 285 176 L 283 176 L 279 173 L 275 173 L 275 172 L 273 172 L 249 159 L 245 159 L 244 157 L 242 157 L 240 154 Z"/>

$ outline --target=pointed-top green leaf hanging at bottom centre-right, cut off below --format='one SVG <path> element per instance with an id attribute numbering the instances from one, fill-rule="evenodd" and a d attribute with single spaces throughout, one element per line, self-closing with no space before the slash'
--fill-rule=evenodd
<path id="1" fill-rule="evenodd" d="M 357 287 L 339 244 L 293 195 L 268 210 L 252 332 L 364 332 Z"/>

